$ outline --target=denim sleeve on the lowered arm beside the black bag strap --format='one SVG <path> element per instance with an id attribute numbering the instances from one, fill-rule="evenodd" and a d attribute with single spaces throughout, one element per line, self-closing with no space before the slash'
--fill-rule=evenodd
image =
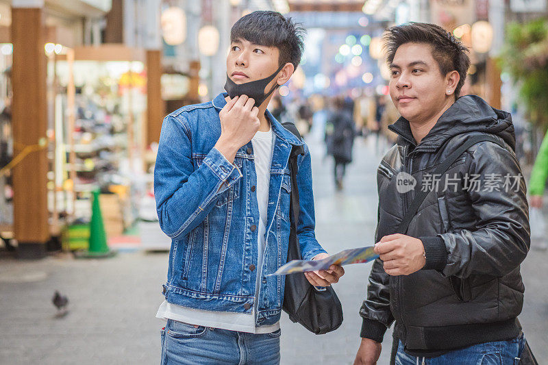
<path id="1" fill-rule="evenodd" d="M 297 171 L 297 188 L 299 189 L 301 208 L 297 236 L 303 260 L 311 260 L 312 257 L 325 252 L 325 250 L 320 246 L 314 234 L 316 218 L 314 217 L 314 194 L 312 192 L 312 162 L 308 147 L 305 146 L 305 149 L 306 153 L 301 158 L 301 164 Z"/>

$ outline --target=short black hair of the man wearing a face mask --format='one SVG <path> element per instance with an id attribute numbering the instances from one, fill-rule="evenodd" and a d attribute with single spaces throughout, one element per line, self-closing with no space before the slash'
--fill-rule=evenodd
<path id="1" fill-rule="evenodd" d="M 247 40 L 256 45 L 276 47 L 278 64 L 291 62 L 295 69 L 301 63 L 306 30 L 279 12 L 257 11 L 242 16 L 230 30 L 230 42 Z"/>

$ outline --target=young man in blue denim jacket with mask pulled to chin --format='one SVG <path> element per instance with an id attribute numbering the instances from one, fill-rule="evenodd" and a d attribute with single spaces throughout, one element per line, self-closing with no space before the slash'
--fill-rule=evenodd
<path id="1" fill-rule="evenodd" d="M 162 230 L 172 238 L 165 301 L 157 316 L 162 364 L 279 364 L 290 234 L 292 147 L 299 155 L 303 259 L 327 256 L 314 236 L 310 153 L 266 105 L 301 60 L 303 29 L 253 12 L 231 31 L 227 93 L 166 116 L 154 171 Z M 307 273 L 314 286 L 343 275 Z"/>

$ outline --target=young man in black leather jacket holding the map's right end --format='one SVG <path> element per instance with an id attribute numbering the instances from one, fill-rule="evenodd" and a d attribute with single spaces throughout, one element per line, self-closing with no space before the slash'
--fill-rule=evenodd
<path id="1" fill-rule="evenodd" d="M 385 36 L 397 145 L 377 170 L 379 216 L 362 342 L 375 364 L 396 320 L 396 364 L 514 364 L 523 349 L 519 265 L 530 246 L 525 182 L 510 114 L 458 97 L 470 60 L 443 28 L 408 23 Z M 434 169 L 474 136 L 445 174 Z M 418 188 L 415 188 L 418 186 Z M 406 234 L 416 192 L 430 191 Z"/>

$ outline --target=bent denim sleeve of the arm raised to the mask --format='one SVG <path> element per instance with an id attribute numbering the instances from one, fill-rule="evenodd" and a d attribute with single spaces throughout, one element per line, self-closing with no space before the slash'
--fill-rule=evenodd
<path id="1" fill-rule="evenodd" d="M 219 196 L 242 176 L 238 166 L 214 148 L 195 169 L 190 137 L 184 114 L 164 118 L 154 167 L 154 195 L 160 227 L 174 240 L 197 227 Z"/>

